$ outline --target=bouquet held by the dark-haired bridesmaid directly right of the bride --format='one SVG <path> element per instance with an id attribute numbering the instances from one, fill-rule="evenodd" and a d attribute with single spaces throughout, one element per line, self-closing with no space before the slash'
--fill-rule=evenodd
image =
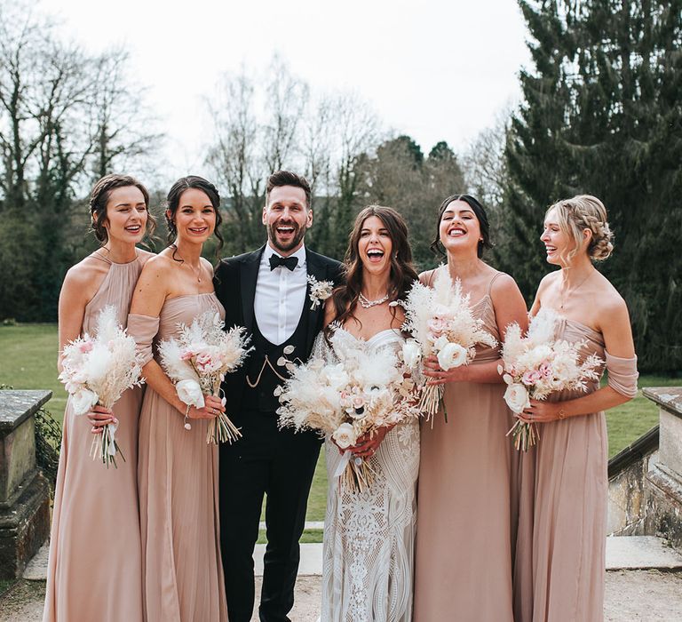
<path id="1" fill-rule="evenodd" d="M 452 283 L 448 270 L 439 269 L 428 287 L 415 283 L 402 303 L 405 309 L 403 329 L 414 340 L 406 344 L 406 360 L 421 376 L 420 408 L 427 419 L 438 412 L 443 397 L 442 385 L 427 385 L 424 358 L 436 356 L 444 371 L 471 363 L 476 355 L 476 344 L 495 347 L 496 339 L 482 328 L 482 321 L 474 318 L 469 294 L 462 292 L 459 279 Z M 446 421 L 448 414 L 445 413 Z"/>

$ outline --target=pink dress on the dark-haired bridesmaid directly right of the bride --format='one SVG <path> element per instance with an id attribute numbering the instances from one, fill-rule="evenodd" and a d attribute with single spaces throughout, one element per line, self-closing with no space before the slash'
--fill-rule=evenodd
<path id="1" fill-rule="evenodd" d="M 472 305 L 498 340 L 490 291 L 501 274 Z M 480 347 L 470 364 L 498 358 L 499 347 Z M 422 422 L 414 620 L 511 621 L 512 413 L 504 384 L 448 383 L 443 400 L 448 422 L 442 413 Z"/>

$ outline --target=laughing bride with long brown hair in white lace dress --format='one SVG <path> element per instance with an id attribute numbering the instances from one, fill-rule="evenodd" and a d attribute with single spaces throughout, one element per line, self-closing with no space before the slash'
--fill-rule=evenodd
<path id="1" fill-rule="evenodd" d="M 389 303 L 403 299 L 416 280 L 407 233 L 391 208 L 361 211 L 346 252 L 346 285 L 327 301 L 325 323 L 340 324 L 344 339 L 361 340 L 370 351 L 402 346 L 404 317 Z M 329 348 L 324 339 L 319 347 Z M 374 471 L 374 481 L 361 492 L 339 486 L 341 451 L 329 438 L 325 452 L 329 493 L 321 622 L 409 622 L 419 423 L 411 420 L 359 439 L 353 453 Z"/>

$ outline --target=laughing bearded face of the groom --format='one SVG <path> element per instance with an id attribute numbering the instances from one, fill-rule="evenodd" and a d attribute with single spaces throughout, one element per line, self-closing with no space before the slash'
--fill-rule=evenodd
<path id="1" fill-rule="evenodd" d="M 270 191 L 263 208 L 267 239 L 282 256 L 301 248 L 305 231 L 313 224 L 313 211 L 305 202 L 305 190 L 295 186 L 277 186 Z"/>

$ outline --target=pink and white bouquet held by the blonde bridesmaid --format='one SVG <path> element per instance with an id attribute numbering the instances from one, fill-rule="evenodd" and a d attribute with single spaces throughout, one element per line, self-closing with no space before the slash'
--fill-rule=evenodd
<path id="1" fill-rule="evenodd" d="M 559 315 L 542 309 L 521 334 L 519 324 L 507 328 L 502 360 L 497 371 L 503 375 L 507 390 L 504 401 L 519 415 L 530 406 L 530 399 L 544 400 L 556 391 L 567 389 L 587 391 L 588 380 L 599 380 L 599 367 L 604 362 L 597 355 L 583 359 L 580 349 L 584 342 L 569 343 L 554 339 Z M 535 423 L 517 419 L 507 433 L 517 450 L 527 451 L 539 438 Z"/>

